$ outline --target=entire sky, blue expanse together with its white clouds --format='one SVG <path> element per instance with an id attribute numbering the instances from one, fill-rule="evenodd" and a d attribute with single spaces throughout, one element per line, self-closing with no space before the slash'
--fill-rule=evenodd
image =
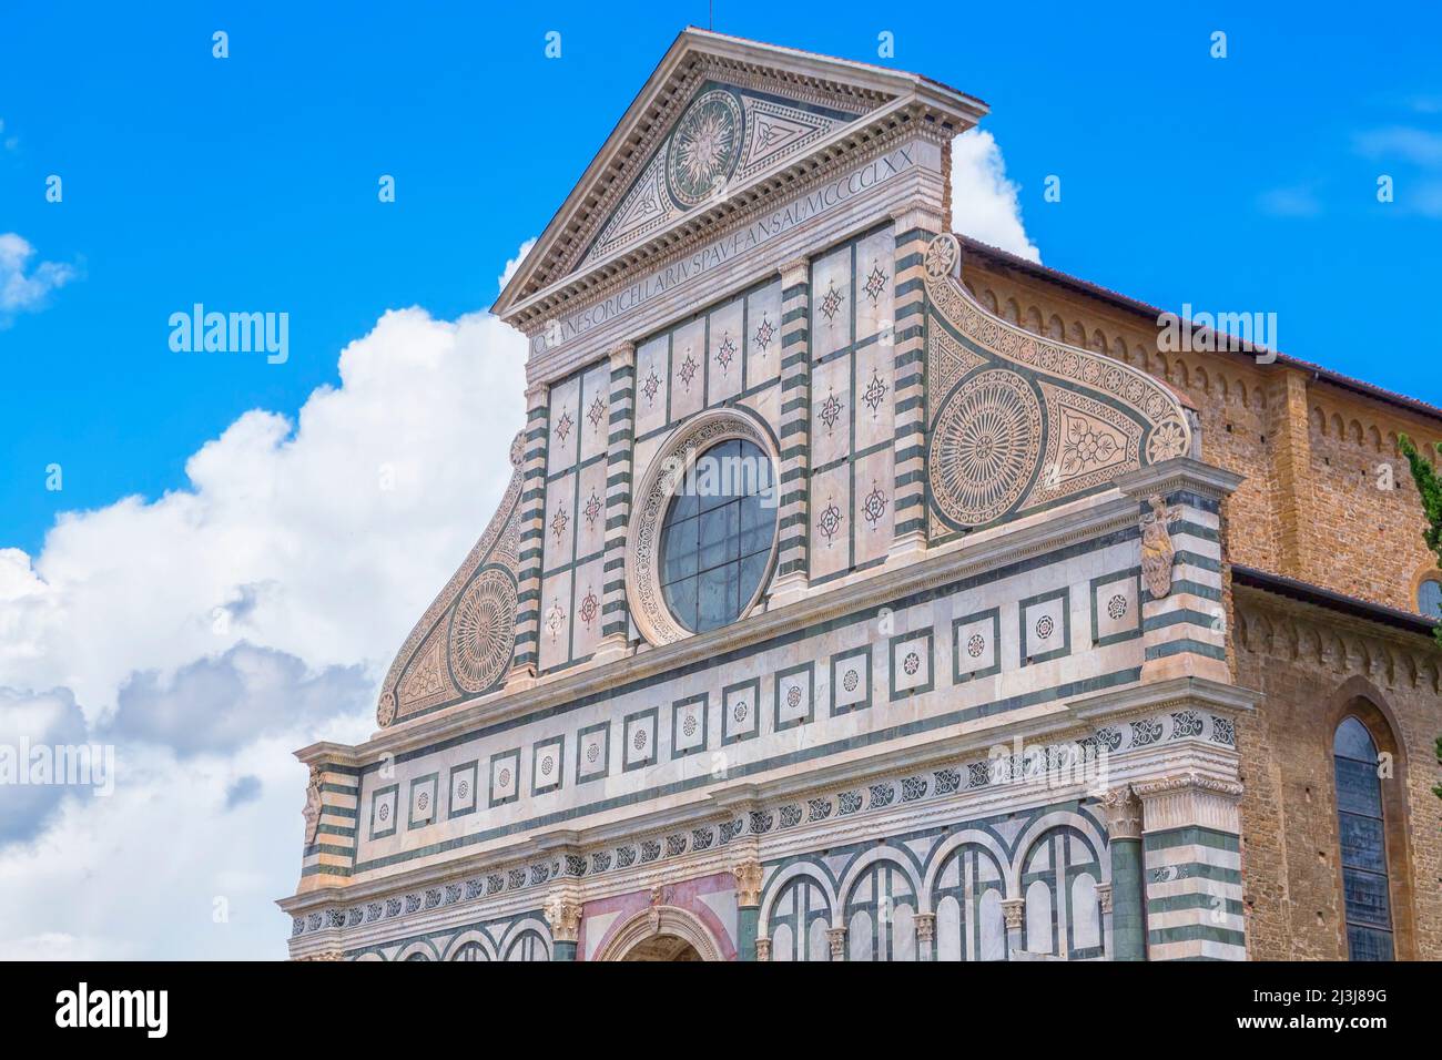
<path id="1" fill-rule="evenodd" d="M 497 277 L 707 4 L 12 7 L 0 744 L 120 769 L 107 798 L 12 793 L 0 959 L 280 956 L 290 753 L 373 731 L 510 473 Z M 992 107 L 962 231 L 1164 309 L 1276 313 L 1283 350 L 1442 404 L 1439 16 L 1340 10 L 718 3 L 715 27 L 874 62 L 890 32 L 894 65 Z M 173 352 L 195 303 L 287 313 L 288 359 Z"/>

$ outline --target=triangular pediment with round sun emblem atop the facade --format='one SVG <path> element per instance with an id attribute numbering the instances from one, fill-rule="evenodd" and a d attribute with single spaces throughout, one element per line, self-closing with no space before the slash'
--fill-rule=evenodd
<path id="1" fill-rule="evenodd" d="M 509 319 L 558 286 L 609 275 L 872 123 L 940 121 L 959 133 L 983 112 L 914 74 L 686 29 L 493 312 Z"/>

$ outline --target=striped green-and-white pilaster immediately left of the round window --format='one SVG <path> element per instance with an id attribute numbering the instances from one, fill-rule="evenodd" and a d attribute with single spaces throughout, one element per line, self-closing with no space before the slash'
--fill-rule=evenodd
<path id="1" fill-rule="evenodd" d="M 611 352 L 610 436 L 606 451 L 606 558 L 603 560 L 601 643 L 597 661 L 626 653 L 630 604 L 626 600 L 626 529 L 630 525 L 632 447 L 636 440 L 636 346 Z"/>

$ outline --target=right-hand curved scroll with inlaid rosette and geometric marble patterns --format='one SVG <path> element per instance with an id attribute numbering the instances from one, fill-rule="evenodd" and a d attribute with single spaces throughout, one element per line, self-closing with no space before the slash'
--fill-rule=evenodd
<path id="1" fill-rule="evenodd" d="M 960 281 L 960 245 L 926 251 L 927 485 L 946 536 L 1109 489 L 1195 454 L 1194 412 L 1165 384 L 1061 335 L 988 312 Z"/>

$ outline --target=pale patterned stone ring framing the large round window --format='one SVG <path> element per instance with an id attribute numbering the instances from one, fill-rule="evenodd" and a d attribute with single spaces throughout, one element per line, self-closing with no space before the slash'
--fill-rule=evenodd
<path id="1" fill-rule="evenodd" d="M 666 509 L 676 490 L 686 482 L 696 459 L 722 441 L 743 440 L 754 444 L 771 463 L 771 489 L 780 495 L 780 453 L 770 430 L 750 411 L 712 408 L 682 424 L 660 447 L 636 490 L 630 526 L 626 535 L 626 596 L 636 629 L 652 645 L 669 645 L 692 636 L 666 606 L 660 588 L 660 536 Z M 761 581 L 741 609 L 744 617 L 766 596 L 776 571 L 776 542 L 780 521 L 771 534 L 771 552 Z"/>

